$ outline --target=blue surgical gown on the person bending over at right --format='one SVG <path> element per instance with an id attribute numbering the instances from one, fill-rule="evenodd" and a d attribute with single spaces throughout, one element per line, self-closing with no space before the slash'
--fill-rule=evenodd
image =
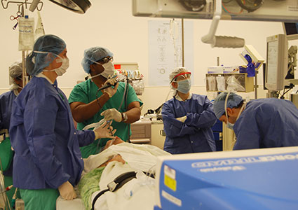
<path id="1" fill-rule="evenodd" d="M 234 150 L 298 146 L 298 109 L 284 99 L 252 100 L 233 130 Z"/>

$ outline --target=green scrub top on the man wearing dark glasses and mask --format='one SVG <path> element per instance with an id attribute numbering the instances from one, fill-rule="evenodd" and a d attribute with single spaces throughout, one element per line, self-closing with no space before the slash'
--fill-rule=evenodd
<path id="1" fill-rule="evenodd" d="M 125 86 L 126 86 L 126 83 L 120 82 L 117 88 L 117 92 L 114 94 L 114 96 L 111 97 L 109 101 L 107 101 L 104 104 L 104 106 L 102 106 L 102 109 L 100 109 L 100 111 L 97 112 L 95 116 L 93 116 L 92 118 L 89 118 L 88 120 L 83 121 L 82 123 L 78 123 L 77 129 L 83 130 L 83 127 L 86 127 L 86 125 L 90 125 L 92 123 L 98 123 L 103 118 L 102 116 L 100 116 L 100 113 L 102 113 L 102 111 L 104 110 L 112 109 L 112 108 L 118 110 L 123 99 Z M 97 89 L 98 87 L 90 79 L 77 84 L 76 86 L 74 86 L 74 89 L 69 95 L 69 104 L 71 104 L 72 102 L 82 102 L 84 104 L 93 102 L 93 100 L 96 99 Z M 97 97 L 99 98 L 101 95 L 102 95 L 102 92 L 98 91 Z M 137 94 L 135 94 L 135 90 L 133 90 L 133 87 L 131 85 L 128 85 L 128 96 L 127 96 L 126 106 L 128 106 L 128 104 L 132 102 L 140 102 L 140 106 L 142 106 L 143 104 L 140 101 L 140 99 L 137 98 Z M 121 113 L 127 111 L 124 100 L 118 111 L 120 111 Z M 115 134 L 116 136 L 123 139 L 123 141 L 128 141 L 128 132 L 129 134 L 131 133 L 129 124 L 117 123 L 113 121 L 111 126 L 117 130 Z M 109 139 L 97 139 L 92 144 L 81 147 L 80 149 L 81 149 L 82 157 L 88 158 L 89 155 L 95 155 L 97 153 L 100 153 L 100 151 L 105 146 L 107 141 L 109 141 Z"/>

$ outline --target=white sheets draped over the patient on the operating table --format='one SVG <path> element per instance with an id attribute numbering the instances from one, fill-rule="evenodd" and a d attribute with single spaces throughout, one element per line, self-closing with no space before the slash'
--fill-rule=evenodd
<path id="1" fill-rule="evenodd" d="M 118 175 L 125 172 L 137 172 L 137 179 L 132 179 L 116 192 L 107 192 L 102 195 L 95 203 L 95 210 L 152 210 L 154 207 L 154 186 L 155 181 L 143 172 L 155 172 L 156 157 L 170 155 L 160 148 L 144 144 L 122 143 L 110 146 L 105 151 L 97 155 L 90 155 L 85 159 L 83 174 L 90 172 L 107 162 L 109 158 L 120 154 L 127 163 L 109 162 L 102 172 L 100 179 L 100 189 L 107 189 L 107 184 L 113 181 Z M 99 192 L 95 192 L 92 198 Z M 131 196 L 130 196 L 131 195 Z M 65 201 L 57 199 L 57 210 L 82 210 L 80 200 Z M 59 204 L 58 204 L 59 203 Z"/>

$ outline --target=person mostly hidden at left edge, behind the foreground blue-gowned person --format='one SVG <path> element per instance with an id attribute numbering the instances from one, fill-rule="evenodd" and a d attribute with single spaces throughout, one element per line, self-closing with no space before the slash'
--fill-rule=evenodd
<path id="1" fill-rule="evenodd" d="M 9 138 L 9 124 L 11 123 L 11 109 L 13 101 L 22 90 L 22 62 L 16 61 L 8 68 L 11 91 L 0 95 L 0 138 L 3 140 L 0 144 L 0 158 L 2 167 L 4 167 L 5 186 L 13 185 L 13 154 L 11 150 L 11 140 Z M 8 200 L 11 202 L 15 193 L 15 188 L 6 192 Z"/>

